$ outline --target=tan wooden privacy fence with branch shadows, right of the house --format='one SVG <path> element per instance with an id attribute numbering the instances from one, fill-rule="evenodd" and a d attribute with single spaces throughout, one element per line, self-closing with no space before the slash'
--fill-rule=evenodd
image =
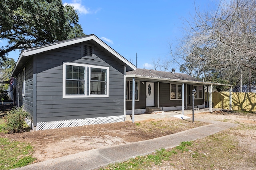
<path id="1" fill-rule="evenodd" d="M 212 92 L 212 106 L 229 109 L 229 92 Z M 256 93 L 232 92 L 232 109 L 256 111 Z"/>

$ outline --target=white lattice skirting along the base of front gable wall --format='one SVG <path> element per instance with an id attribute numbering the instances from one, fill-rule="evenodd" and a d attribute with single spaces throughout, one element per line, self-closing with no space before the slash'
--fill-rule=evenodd
<path id="1" fill-rule="evenodd" d="M 104 123 L 115 123 L 124 121 L 124 115 L 119 116 L 109 116 L 109 117 L 95 117 L 87 119 L 72 119 L 72 120 L 62 120 L 62 121 L 47 121 L 38 122 L 36 130 L 46 130 L 46 129 L 56 129 L 62 127 L 75 127 L 84 125 L 96 125 Z"/>

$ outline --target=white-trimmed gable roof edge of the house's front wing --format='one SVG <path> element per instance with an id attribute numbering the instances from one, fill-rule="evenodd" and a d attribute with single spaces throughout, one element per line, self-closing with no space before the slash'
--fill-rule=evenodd
<path id="1" fill-rule="evenodd" d="M 130 63 L 128 60 L 126 60 L 124 57 L 122 57 L 120 54 L 118 54 L 114 49 L 109 47 L 106 43 L 104 43 L 96 35 L 91 34 L 91 35 L 85 35 L 85 36 L 77 37 L 77 38 L 74 38 L 74 39 L 58 41 L 56 43 L 50 43 L 50 44 L 43 45 L 43 46 L 40 46 L 40 47 L 33 47 L 33 48 L 30 48 L 30 49 L 23 50 L 20 53 L 20 57 L 19 57 L 19 59 L 16 63 L 16 66 L 15 66 L 13 72 L 12 72 L 12 76 L 16 76 L 18 74 L 20 69 L 22 69 L 23 64 L 26 63 L 25 61 L 26 61 L 26 58 L 28 58 L 28 56 L 32 56 L 32 55 L 42 53 L 42 52 L 45 52 L 45 51 L 50 51 L 50 50 L 53 50 L 53 49 L 65 47 L 65 46 L 68 46 L 68 45 L 73 45 L 73 44 L 76 44 L 76 43 L 82 43 L 82 42 L 90 41 L 90 40 L 93 40 L 94 42 L 98 43 L 98 45 L 103 47 L 106 51 L 108 51 L 112 55 L 114 55 L 114 57 L 119 59 L 119 61 L 124 63 L 124 65 L 126 66 L 127 71 L 136 69 L 136 66 L 134 66 L 132 63 Z"/>

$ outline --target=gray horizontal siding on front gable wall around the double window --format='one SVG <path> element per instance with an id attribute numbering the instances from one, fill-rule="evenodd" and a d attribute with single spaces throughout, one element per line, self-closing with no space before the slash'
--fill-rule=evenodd
<path id="1" fill-rule="evenodd" d="M 94 54 L 81 58 L 79 43 L 37 55 L 37 122 L 124 115 L 124 66 L 96 46 Z M 64 62 L 108 67 L 109 97 L 63 98 Z"/>

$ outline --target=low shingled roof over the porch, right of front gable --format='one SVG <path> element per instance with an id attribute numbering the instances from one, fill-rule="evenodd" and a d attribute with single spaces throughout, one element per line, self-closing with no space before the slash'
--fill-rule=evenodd
<path id="1" fill-rule="evenodd" d="M 232 86 L 230 84 L 214 83 L 214 82 L 202 82 L 188 74 L 183 73 L 172 73 L 168 71 L 157 71 L 136 68 L 136 70 L 126 72 L 126 78 L 145 78 L 158 81 L 172 81 L 172 82 L 185 82 L 193 84 L 205 84 L 205 85 L 216 85 L 216 86 Z"/>

